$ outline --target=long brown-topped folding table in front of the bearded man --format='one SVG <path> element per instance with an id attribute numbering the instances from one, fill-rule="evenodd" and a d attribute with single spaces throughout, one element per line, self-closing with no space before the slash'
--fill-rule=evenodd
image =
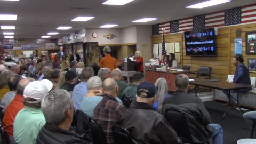
<path id="1" fill-rule="evenodd" d="M 189 81 L 189 84 L 195 85 L 195 93 L 197 92 L 196 91 L 197 86 L 204 86 L 204 87 L 210 87 L 210 88 L 213 88 L 213 89 L 222 90 L 227 95 L 227 97 L 229 98 L 229 103 L 231 101 L 234 102 L 231 99 L 233 97 L 230 93 L 230 90 L 237 90 L 237 107 L 242 111 L 242 113 L 244 113 L 244 111 L 239 107 L 239 92 L 238 92 L 238 90 L 251 87 L 251 85 L 229 83 L 229 82 L 226 82 L 226 81 L 213 81 L 213 79 L 204 79 L 204 78 L 194 78 L 194 81 Z M 230 105 L 228 105 L 227 110 L 223 114 L 222 119 L 225 118 L 229 109 L 230 109 Z"/>

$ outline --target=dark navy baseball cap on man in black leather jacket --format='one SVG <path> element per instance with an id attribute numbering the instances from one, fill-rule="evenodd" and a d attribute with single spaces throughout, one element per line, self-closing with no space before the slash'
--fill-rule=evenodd
<path id="1" fill-rule="evenodd" d="M 141 92 L 145 92 L 146 95 L 140 94 Z M 152 98 L 156 95 L 156 87 L 153 83 L 142 82 L 137 86 L 137 95 L 141 98 Z"/>

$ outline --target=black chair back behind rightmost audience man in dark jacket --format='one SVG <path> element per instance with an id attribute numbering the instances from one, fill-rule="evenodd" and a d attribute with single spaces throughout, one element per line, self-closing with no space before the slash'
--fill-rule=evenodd
<path id="1" fill-rule="evenodd" d="M 177 132 L 182 142 L 192 142 L 187 119 L 182 110 L 168 107 L 165 109 L 164 117 Z"/>

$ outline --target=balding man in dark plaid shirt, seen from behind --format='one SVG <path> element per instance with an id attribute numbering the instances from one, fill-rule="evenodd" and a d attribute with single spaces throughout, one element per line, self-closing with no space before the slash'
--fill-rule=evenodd
<path id="1" fill-rule="evenodd" d="M 101 125 L 108 144 L 114 144 L 112 126 L 124 115 L 126 107 L 117 102 L 118 85 L 113 78 L 103 81 L 103 99 L 94 109 L 94 118 Z"/>

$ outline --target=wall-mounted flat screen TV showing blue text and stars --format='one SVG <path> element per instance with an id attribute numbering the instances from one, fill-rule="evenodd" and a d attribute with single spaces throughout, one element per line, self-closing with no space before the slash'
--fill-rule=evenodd
<path id="1" fill-rule="evenodd" d="M 216 56 L 216 41 L 214 28 L 186 31 L 186 55 Z"/>

